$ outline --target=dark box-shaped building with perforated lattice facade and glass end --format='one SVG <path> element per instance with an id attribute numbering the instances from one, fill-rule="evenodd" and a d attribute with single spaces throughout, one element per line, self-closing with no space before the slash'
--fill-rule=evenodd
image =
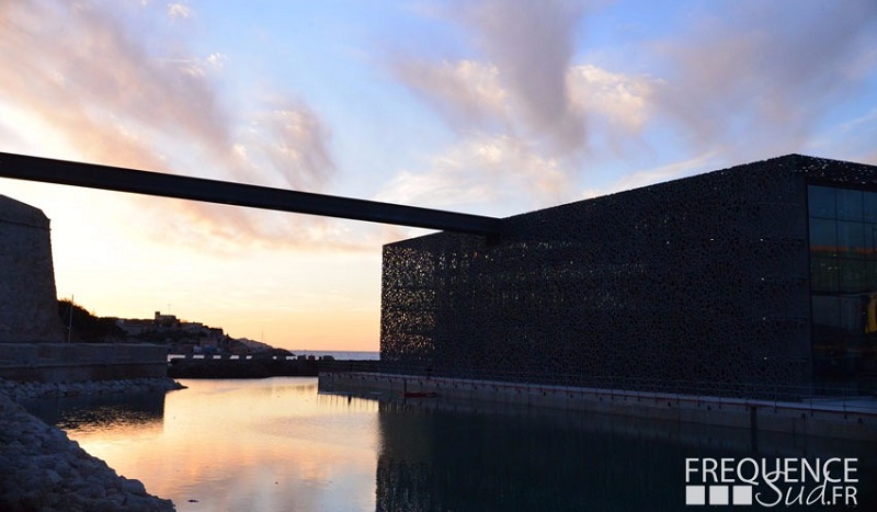
<path id="1" fill-rule="evenodd" d="M 874 166 L 790 155 L 384 247 L 400 371 L 867 392 L 875 354 Z"/>

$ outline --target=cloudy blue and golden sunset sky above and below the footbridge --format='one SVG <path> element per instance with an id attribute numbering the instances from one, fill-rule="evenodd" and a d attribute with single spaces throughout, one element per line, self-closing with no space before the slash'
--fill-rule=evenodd
<path id="1" fill-rule="evenodd" d="M 873 0 L 0 0 L 0 151 L 494 217 L 791 152 L 877 164 Z M 430 231 L 0 179 L 59 298 L 379 346 Z"/>

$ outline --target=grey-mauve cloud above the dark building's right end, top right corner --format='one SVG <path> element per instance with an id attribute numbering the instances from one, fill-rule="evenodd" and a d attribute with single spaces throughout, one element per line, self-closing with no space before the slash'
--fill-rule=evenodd
<path id="1" fill-rule="evenodd" d="M 866 87 L 877 3 L 736 2 L 688 25 L 650 48 L 667 69 L 656 106 L 695 150 L 722 145 L 748 159 L 800 150 Z"/>

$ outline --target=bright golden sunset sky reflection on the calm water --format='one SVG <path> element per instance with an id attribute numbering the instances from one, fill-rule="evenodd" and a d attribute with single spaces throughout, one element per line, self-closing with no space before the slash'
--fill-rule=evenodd
<path id="1" fill-rule="evenodd" d="M 375 510 L 376 402 L 317 395 L 315 378 L 185 385 L 163 424 L 98 407 L 68 435 L 180 511 Z"/>

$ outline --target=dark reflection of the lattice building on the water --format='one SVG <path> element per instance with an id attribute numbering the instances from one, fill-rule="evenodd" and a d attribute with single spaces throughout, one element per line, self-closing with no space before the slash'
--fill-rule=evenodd
<path id="1" fill-rule="evenodd" d="M 680 510 L 685 457 L 768 455 L 740 429 L 458 405 L 380 403 L 377 511 Z M 857 456 L 862 474 L 875 470 L 861 443 L 765 441 L 772 457 Z M 870 502 L 862 487 L 861 502 Z"/>

